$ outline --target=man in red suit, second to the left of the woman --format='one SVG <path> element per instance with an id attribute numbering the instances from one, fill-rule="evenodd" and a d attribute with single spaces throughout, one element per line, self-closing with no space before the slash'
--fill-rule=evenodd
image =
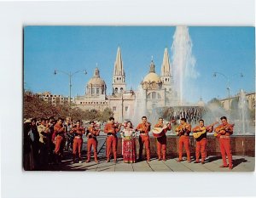
<path id="1" fill-rule="evenodd" d="M 96 126 L 96 123 L 91 121 L 90 127 L 88 127 L 86 131 L 86 137 L 87 137 L 87 161 L 86 163 L 90 162 L 90 152 L 91 147 L 93 147 L 93 154 L 94 154 L 94 161 L 98 163 L 98 157 L 97 157 L 97 145 L 98 141 L 96 137 L 100 134 L 100 128 Z"/>

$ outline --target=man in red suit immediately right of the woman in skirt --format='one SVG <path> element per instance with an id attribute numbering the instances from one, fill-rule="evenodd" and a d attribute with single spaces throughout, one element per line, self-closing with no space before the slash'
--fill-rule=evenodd
<path id="1" fill-rule="evenodd" d="M 142 117 L 142 123 L 139 123 L 137 126 L 137 131 L 140 132 L 139 136 L 139 144 L 140 144 L 140 150 L 139 150 L 139 161 L 142 161 L 143 159 L 143 144 L 145 144 L 146 147 L 146 155 L 147 155 L 147 161 L 150 161 L 150 142 L 149 142 L 149 131 L 150 131 L 150 123 L 147 122 L 147 117 Z"/>

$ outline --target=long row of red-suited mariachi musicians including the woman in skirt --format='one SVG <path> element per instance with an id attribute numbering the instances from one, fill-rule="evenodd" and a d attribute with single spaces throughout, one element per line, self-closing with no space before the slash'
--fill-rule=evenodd
<path id="1" fill-rule="evenodd" d="M 233 133 L 234 124 L 230 124 L 225 116 L 220 118 L 221 124 L 214 129 L 214 136 L 219 139 L 219 147 L 221 151 L 221 156 L 223 159 L 223 165 L 220 167 L 233 168 L 232 164 L 232 154 L 230 149 L 230 135 Z M 117 133 L 120 134 L 122 138 L 122 155 L 123 160 L 126 163 L 134 163 L 136 161 L 143 160 L 143 147 L 146 150 L 146 161 L 150 161 L 150 139 L 149 132 L 152 132 L 154 138 L 156 139 L 156 149 L 159 161 L 166 161 L 166 133 L 172 130 L 172 123 L 176 122 L 172 120 L 170 122 L 164 123 L 163 118 L 159 118 L 158 123 L 154 125 L 151 130 L 151 123 L 148 122 L 146 116 L 142 117 L 142 121 L 134 127 L 132 123 L 125 122 L 120 124 L 114 122 L 114 118 L 110 117 L 109 122 L 105 125 L 103 132 L 106 133 L 106 156 L 107 162 L 110 161 L 110 156 L 113 153 L 113 161 L 117 162 L 117 144 L 118 137 Z M 207 133 L 213 132 L 214 125 L 218 122 L 214 122 L 209 126 L 205 126 L 204 121 L 199 120 L 198 126 L 191 128 L 191 125 L 186 121 L 186 118 L 181 118 L 179 125 L 174 128 L 174 131 L 178 138 L 178 160 L 177 162 L 183 161 L 183 147 L 186 150 L 187 162 L 191 162 L 190 150 L 189 150 L 189 134 L 192 133 L 195 138 L 195 163 L 204 164 L 207 157 Z M 122 129 L 121 129 L 122 128 Z M 53 147 L 53 154 L 55 162 L 61 163 L 61 158 L 63 156 L 63 150 L 65 145 L 70 144 L 67 141 L 67 133 L 73 135 L 73 163 L 82 162 L 81 150 L 83 145 L 83 135 L 87 138 L 87 161 L 90 162 L 91 148 L 93 148 L 94 161 L 98 163 L 97 157 L 97 136 L 101 132 L 101 127 L 96 124 L 96 122 L 91 121 L 90 127 L 82 127 L 81 122 L 75 122 L 75 125 L 70 124 L 70 120 L 62 122 L 62 119 L 58 119 L 54 125 L 50 125 L 49 120 L 45 122 L 42 120 L 40 125 L 38 125 L 38 139 L 40 139 L 40 144 L 38 147 L 39 153 L 42 154 L 41 161 L 49 160 L 47 158 L 47 151 L 45 148 L 51 145 Z M 138 159 L 136 156 L 136 137 L 139 136 L 139 155 Z M 49 138 L 51 137 L 51 138 Z M 46 156 L 45 156 L 46 155 Z M 200 161 L 201 156 L 201 161 Z M 228 156 L 228 161 L 226 161 L 226 156 Z M 40 158 L 40 157 L 39 157 Z M 78 161 L 77 161 L 78 158 Z M 40 160 L 38 160 L 40 163 Z"/>

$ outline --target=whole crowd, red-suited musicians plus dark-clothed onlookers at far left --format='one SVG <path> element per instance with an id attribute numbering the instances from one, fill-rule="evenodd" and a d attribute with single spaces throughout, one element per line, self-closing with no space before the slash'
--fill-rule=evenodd
<path id="1" fill-rule="evenodd" d="M 230 150 L 230 135 L 233 133 L 233 125 L 227 122 L 225 116 L 220 118 L 222 124 L 215 128 L 215 136 L 219 139 L 223 165 L 221 167 L 230 167 L 232 169 L 232 156 Z M 172 122 L 175 122 L 173 120 Z M 172 129 L 172 122 L 164 123 L 163 118 L 159 118 L 158 123 L 151 128 L 151 123 L 148 122 L 146 116 L 142 117 L 142 121 L 134 127 L 130 121 L 125 123 L 114 122 L 114 118 L 110 117 L 109 122 L 104 126 L 103 132 L 106 133 L 106 157 L 110 161 L 113 153 L 113 161 L 117 162 L 117 144 L 120 134 L 122 138 L 122 155 L 123 161 L 126 163 L 135 163 L 143 161 L 143 147 L 146 150 L 146 161 L 150 161 L 150 141 L 149 132 L 152 131 L 156 138 L 157 156 L 159 161 L 166 161 L 166 132 Z M 183 161 L 183 146 L 185 147 L 187 158 L 190 163 L 189 150 L 189 133 L 193 133 L 196 140 L 196 159 L 195 163 L 204 164 L 206 160 L 207 150 L 207 133 L 212 133 L 213 126 L 205 126 L 203 120 L 198 121 L 198 126 L 191 128 L 189 122 L 183 117 L 180 119 L 179 125 L 175 127 L 178 141 L 178 160 Z M 152 129 L 152 130 L 151 130 Z M 82 163 L 81 150 L 83 145 L 83 136 L 87 138 L 87 160 L 90 162 L 91 149 L 93 148 L 94 161 L 99 162 L 97 156 L 97 136 L 101 132 L 101 127 L 96 122 L 91 121 L 89 127 L 82 127 L 80 121 L 71 122 L 67 118 L 65 122 L 53 117 L 49 119 L 28 119 L 24 122 L 24 152 L 23 165 L 25 170 L 45 170 L 49 164 L 61 164 L 63 150 L 69 150 L 72 147 L 73 163 Z M 137 159 L 136 154 L 136 137 L 138 134 L 139 154 Z M 229 164 L 226 162 L 226 155 L 229 159 Z"/>

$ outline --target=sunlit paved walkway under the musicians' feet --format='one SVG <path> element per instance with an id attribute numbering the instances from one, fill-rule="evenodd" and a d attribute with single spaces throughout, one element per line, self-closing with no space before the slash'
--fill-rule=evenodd
<path id="1" fill-rule="evenodd" d="M 127 164 L 119 159 L 117 163 L 106 162 L 100 159 L 96 164 L 94 161 L 89 163 L 72 163 L 72 160 L 63 161 L 61 165 L 50 165 L 49 171 L 89 171 L 89 172 L 252 172 L 254 171 L 255 158 L 249 156 L 233 156 L 234 168 L 220 168 L 222 159 L 220 156 L 209 156 L 205 164 L 188 163 L 187 161 L 177 162 L 177 159 L 167 161 L 139 161 Z"/>

